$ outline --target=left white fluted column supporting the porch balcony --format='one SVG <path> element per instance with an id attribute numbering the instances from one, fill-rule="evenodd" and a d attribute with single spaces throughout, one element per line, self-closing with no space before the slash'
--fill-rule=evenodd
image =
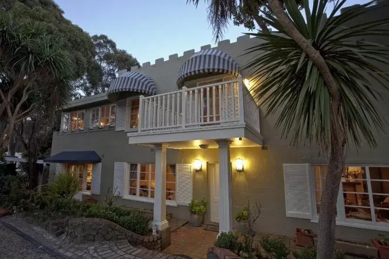
<path id="1" fill-rule="evenodd" d="M 166 220 L 166 146 L 155 144 L 154 220 L 158 230 L 169 226 Z"/>

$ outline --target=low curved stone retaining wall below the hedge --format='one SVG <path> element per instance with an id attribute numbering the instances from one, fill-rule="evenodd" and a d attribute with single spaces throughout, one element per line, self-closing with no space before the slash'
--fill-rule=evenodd
<path id="1" fill-rule="evenodd" d="M 141 245 L 151 250 L 161 250 L 161 235 L 141 236 L 105 219 L 71 219 L 67 228 L 72 242 L 127 240 L 130 244 Z"/>

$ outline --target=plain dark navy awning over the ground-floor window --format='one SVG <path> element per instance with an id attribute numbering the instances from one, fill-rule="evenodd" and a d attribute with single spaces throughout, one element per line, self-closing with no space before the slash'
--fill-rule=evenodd
<path id="1" fill-rule="evenodd" d="M 101 158 L 94 151 L 63 151 L 43 159 L 45 163 L 99 163 Z"/>

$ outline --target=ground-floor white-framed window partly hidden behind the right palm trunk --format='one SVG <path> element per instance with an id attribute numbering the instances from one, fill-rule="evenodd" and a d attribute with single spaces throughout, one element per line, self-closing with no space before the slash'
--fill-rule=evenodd
<path id="1" fill-rule="evenodd" d="M 315 165 L 312 173 L 318 214 L 327 166 Z M 389 167 L 346 166 L 338 195 L 338 221 L 389 223 Z"/>

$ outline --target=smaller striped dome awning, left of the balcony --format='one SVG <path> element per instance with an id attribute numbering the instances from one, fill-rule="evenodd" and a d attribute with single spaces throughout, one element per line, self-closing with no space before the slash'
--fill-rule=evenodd
<path id="1" fill-rule="evenodd" d="M 154 95 L 157 93 L 157 86 L 149 75 L 128 71 L 112 80 L 107 94 L 117 92 L 139 92 Z"/>

